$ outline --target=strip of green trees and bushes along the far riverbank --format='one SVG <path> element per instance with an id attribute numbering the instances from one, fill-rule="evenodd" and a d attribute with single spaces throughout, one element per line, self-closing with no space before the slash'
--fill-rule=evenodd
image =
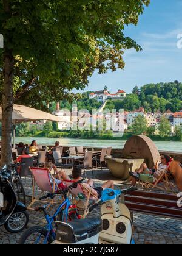
<path id="1" fill-rule="evenodd" d="M 114 134 L 114 136 L 113 136 Z M 1 123 L 0 123 L 1 135 Z M 83 138 L 83 139 L 98 139 L 98 140 L 128 140 L 132 135 L 147 135 L 153 141 L 182 141 L 182 127 L 176 126 L 174 134 L 171 135 L 171 128 L 166 120 L 162 121 L 159 126 L 159 134 L 155 134 L 154 127 L 147 127 L 143 117 L 136 118 L 133 126 L 127 129 L 122 137 L 116 137 L 112 131 L 60 131 L 56 123 L 47 122 L 43 129 L 38 129 L 37 126 L 31 126 L 29 123 L 22 123 L 16 126 L 16 136 L 18 137 L 48 137 L 48 138 Z"/>

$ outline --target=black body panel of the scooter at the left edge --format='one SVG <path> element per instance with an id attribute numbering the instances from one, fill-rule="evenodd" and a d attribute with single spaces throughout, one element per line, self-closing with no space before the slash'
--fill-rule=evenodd
<path id="1" fill-rule="evenodd" d="M 0 226 L 7 222 L 15 210 L 17 197 L 12 185 L 8 181 L 0 180 Z"/>

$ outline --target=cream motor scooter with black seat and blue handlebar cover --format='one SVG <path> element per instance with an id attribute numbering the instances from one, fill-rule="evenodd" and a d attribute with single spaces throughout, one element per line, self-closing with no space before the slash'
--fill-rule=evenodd
<path id="1" fill-rule="evenodd" d="M 133 244 L 133 225 L 129 209 L 120 203 L 121 194 L 137 190 L 103 191 L 101 199 L 89 212 L 101 207 L 101 218 L 78 219 L 70 223 L 57 221 L 56 240 L 53 244 Z"/>

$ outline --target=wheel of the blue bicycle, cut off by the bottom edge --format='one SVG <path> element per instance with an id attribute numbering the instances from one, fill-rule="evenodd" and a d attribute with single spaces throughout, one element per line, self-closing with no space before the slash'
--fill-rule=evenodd
<path id="1" fill-rule="evenodd" d="M 45 239 L 47 237 L 47 230 L 44 227 L 36 226 L 30 227 L 21 236 L 19 244 L 45 244 Z M 53 242 L 52 237 L 49 235 L 46 244 L 51 244 Z"/>

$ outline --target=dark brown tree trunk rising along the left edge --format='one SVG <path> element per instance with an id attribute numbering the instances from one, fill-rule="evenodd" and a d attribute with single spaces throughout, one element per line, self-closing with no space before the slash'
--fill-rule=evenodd
<path id="1" fill-rule="evenodd" d="M 11 16 L 10 3 L 3 1 L 4 10 Z M 12 113 L 13 113 L 13 66 L 12 50 L 8 49 L 6 42 L 10 41 L 8 30 L 4 33 L 4 84 L 2 90 L 2 141 L 1 166 L 10 165 L 12 161 Z"/>

